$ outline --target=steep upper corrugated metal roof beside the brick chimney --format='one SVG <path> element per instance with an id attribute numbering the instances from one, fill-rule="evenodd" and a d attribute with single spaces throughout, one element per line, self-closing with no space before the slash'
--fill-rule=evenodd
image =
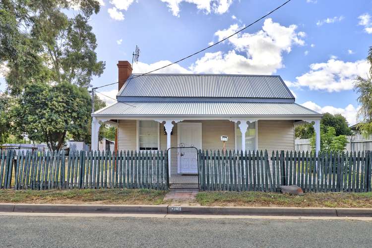
<path id="1" fill-rule="evenodd" d="M 294 99 L 280 76 L 132 74 L 118 96 Z"/>

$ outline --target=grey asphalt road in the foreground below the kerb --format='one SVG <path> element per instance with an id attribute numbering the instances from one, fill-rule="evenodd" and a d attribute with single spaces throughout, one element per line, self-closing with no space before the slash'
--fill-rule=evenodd
<path id="1" fill-rule="evenodd" d="M 0 216 L 1 247 L 371 247 L 372 222 Z"/>

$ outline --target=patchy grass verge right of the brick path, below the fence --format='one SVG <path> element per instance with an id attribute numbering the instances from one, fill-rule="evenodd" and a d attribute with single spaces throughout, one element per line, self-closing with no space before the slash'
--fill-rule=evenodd
<path id="1" fill-rule="evenodd" d="M 306 193 L 303 196 L 270 192 L 199 192 L 196 201 L 203 206 L 252 207 L 372 207 L 372 192 Z"/>

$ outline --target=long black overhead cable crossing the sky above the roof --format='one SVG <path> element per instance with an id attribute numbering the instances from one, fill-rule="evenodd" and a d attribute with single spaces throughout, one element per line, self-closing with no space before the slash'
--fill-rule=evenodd
<path id="1" fill-rule="evenodd" d="M 234 35 L 236 35 L 236 34 L 242 32 L 243 30 L 247 29 L 248 27 L 252 26 L 253 24 L 259 22 L 259 21 L 262 20 L 263 18 L 265 18 L 265 17 L 267 17 L 268 15 L 272 14 L 273 12 L 275 12 L 275 11 L 278 10 L 279 8 L 283 7 L 284 5 L 286 5 L 286 4 L 287 4 L 288 2 L 290 2 L 290 1 L 291 1 L 291 0 L 287 0 L 287 1 L 285 1 L 285 2 L 284 2 L 283 4 L 281 4 L 280 6 L 274 8 L 273 10 L 271 10 L 270 12 L 268 12 L 267 14 L 263 15 L 262 17 L 260 17 L 259 19 L 255 20 L 254 22 L 250 23 L 248 26 L 245 26 L 244 28 L 238 30 L 238 31 L 235 32 L 234 34 L 232 34 L 232 35 L 230 35 L 230 36 L 228 36 L 228 37 L 226 37 L 226 38 L 224 38 L 224 39 L 222 39 L 222 40 L 220 40 L 220 41 L 218 41 L 218 42 L 216 42 L 216 43 L 214 43 L 214 44 L 212 44 L 212 45 L 210 45 L 210 46 L 208 46 L 208 47 L 206 47 L 206 48 L 203 48 L 203 49 L 201 49 L 201 50 L 199 50 L 199 51 L 197 51 L 197 52 L 195 52 L 195 53 L 193 53 L 193 54 L 191 54 L 191 55 L 189 55 L 189 56 L 186 56 L 186 57 L 184 57 L 184 58 L 182 58 L 182 59 L 180 59 L 180 60 L 178 60 L 178 61 L 172 62 L 172 63 L 170 63 L 170 64 L 164 65 L 164 66 L 159 67 L 159 68 L 157 68 L 157 69 L 154 69 L 154 70 L 148 71 L 148 72 L 146 72 L 146 73 L 142 73 L 142 74 L 139 74 L 139 75 L 137 75 L 137 76 L 130 77 L 130 78 L 129 78 L 129 82 L 130 82 L 130 80 L 133 79 L 133 78 L 140 77 L 140 76 L 143 76 L 143 75 L 146 75 L 146 74 L 152 73 L 152 72 L 154 72 L 154 71 L 164 69 L 165 67 L 171 66 L 172 64 L 176 64 L 176 63 L 182 62 L 182 61 L 184 61 L 184 60 L 186 60 L 186 59 L 188 59 L 188 58 L 190 58 L 190 57 L 192 57 L 192 56 L 195 56 L 195 55 L 197 55 L 197 54 L 199 54 L 199 53 L 201 53 L 201 52 L 203 52 L 203 51 L 205 51 L 205 50 L 207 50 L 207 49 L 209 49 L 209 48 L 211 48 L 211 47 L 214 47 L 214 46 L 220 44 L 221 42 L 226 41 L 227 39 L 233 37 Z M 99 86 L 99 87 L 95 87 L 94 89 L 98 89 L 98 88 L 106 87 L 106 86 L 113 85 L 113 84 L 116 84 L 116 83 L 119 83 L 119 82 L 115 82 L 115 83 L 110 83 L 110 84 L 102 85 L 102 86 Z"/>

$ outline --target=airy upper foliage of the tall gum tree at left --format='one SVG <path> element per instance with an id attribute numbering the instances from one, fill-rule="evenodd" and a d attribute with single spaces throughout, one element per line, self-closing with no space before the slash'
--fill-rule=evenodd
<path id="1" fill-rule="evenodd" d="M 65 9 L 79 6 L 73 17 Z M 88 87 L 102 74 L 96 37 L 88 24 L 100 8 L 96 0 L 3 0 L 0 2 L 0 63 L 7 62 L 8 91 L 28 82 L 69 82 Z"/>

